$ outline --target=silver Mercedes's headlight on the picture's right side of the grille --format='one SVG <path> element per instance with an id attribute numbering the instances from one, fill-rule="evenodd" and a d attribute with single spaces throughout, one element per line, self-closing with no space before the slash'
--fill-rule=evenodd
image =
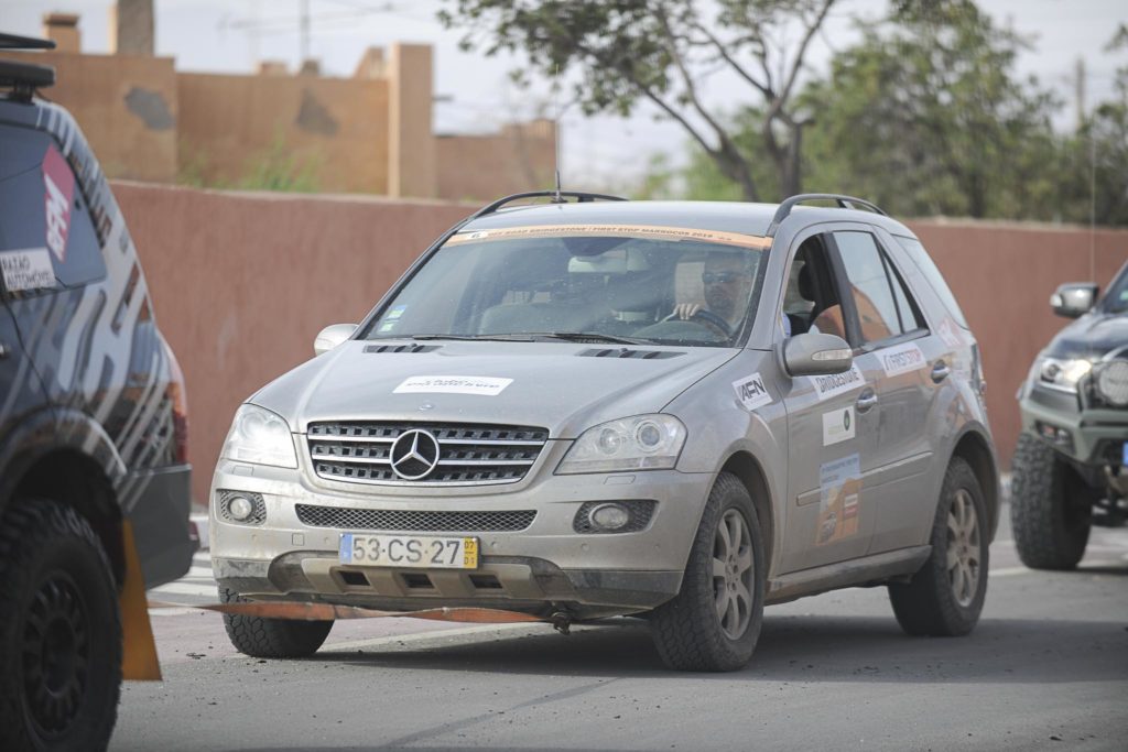
<path id="1" fill-rule="evenodd" d="M 686 426 L 670 415 L 638 415 L 583 432 L 569 450 L 557 475 L 667 470 L 686 443 Z"/>

